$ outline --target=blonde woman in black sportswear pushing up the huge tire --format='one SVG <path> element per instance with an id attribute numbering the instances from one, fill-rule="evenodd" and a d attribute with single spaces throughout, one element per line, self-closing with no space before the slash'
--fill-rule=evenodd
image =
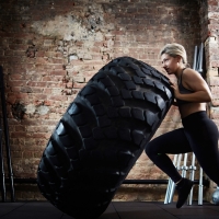
<path id="1" fill-rule="evenodd" d="M 168 44 L 160 53 L 162 67 L 174 74 L 177 84 L 170 81 L 178 106 L 183 128 L 154 138 L 146 146 L 147 155 L 176 184 L 181 208 L 187 199 L 193 182 L 183 178 L 165 154 L 194 152 L 205 173 L 219 185 L 218 128 L 206 114 L 211 93 L 201 76 L 187 68 L 187 57 L 180 44 Z"/>

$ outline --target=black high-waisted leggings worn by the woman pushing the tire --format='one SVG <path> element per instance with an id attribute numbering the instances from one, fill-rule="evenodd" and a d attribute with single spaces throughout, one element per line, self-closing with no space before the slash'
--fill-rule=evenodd
<path id="1" fill-rule="evenodd" d="M 173 182 L 182 176 L 165 154 L 194 152 L 205 173 L 219 185 L 218 128 L 206 112 L 197 112 L 182 119 L 184 128 L 161 135 L 146 146 L 147 155 Z"/>

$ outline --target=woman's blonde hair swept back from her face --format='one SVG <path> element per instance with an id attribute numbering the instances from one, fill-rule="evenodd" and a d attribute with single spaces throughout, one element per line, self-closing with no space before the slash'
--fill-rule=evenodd
<path id="1" fill-rule="evenodd" d="M 181 44 L 166 44 L 160 51 L 160 56 L 168 54 L 169 56 L 176 57 L 181 56 L 183 64 L 187 65 L 187 55 L 185 48 Z"/>

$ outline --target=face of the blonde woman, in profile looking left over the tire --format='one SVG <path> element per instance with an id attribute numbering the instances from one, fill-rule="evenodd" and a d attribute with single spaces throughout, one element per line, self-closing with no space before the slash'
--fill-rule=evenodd
<path id="1" fill-rule="evenodd" d="M 162 67 L 165 69 L 168 74 L 173 74 L 178 68 L 178 57 L 172 57 L 168 54 L 161 56 Z"/>

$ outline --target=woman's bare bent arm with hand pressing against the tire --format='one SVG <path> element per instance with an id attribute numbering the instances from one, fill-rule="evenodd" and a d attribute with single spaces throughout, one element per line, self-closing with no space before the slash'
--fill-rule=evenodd
<path id="1" fill-rule="evenodd" d="M 175 99 L 197 103 L 211 101 L 210 89 L 197 71 L 194 71 L 193 69 L 185 69 L 182 77 L 182 83 L 184 88 L 194 91 L 194 93 L 182 94 L 178 91 L 177 84 L 171 82 L 171 88 L 174 91 Z"/>

